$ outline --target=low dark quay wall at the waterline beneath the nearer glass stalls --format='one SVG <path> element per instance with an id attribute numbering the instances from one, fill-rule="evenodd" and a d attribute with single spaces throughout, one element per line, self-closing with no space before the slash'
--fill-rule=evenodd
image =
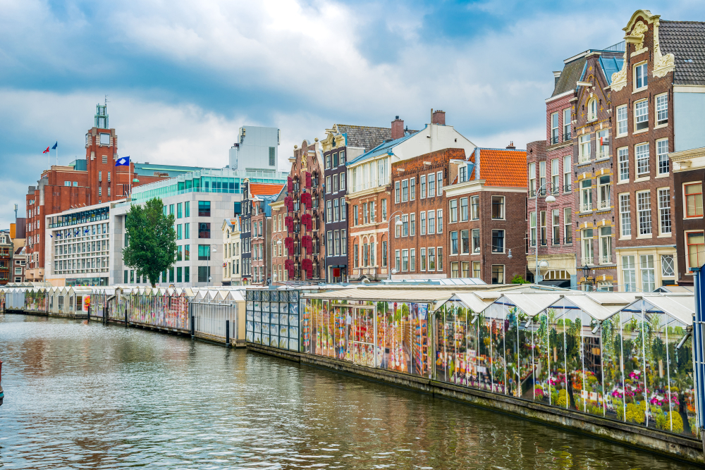
<path id="1" fill-rule="evenodd" d="M 433 381 L 405 373 L 395 373 L 357 366 L 348 361 L 320 357 L 295 351 L 283 351 L 274 347 L 247 343 L 247 350 L 269 356 L 295 361 L 307 366 L 329 369 L 346 373 L 371 381 L 386 383 L 400 388 L 428 393 L 436 397 L 465 402 L 484 409 L 503 412 L 531 421 L 539 421 L 550 426 L 567 428 L 592 435 L 596 438 L 611 440 L 622 445 L 637 447 L 641 450 L 656 452 L 668 457 L 681 459 L 705 466 L 703 445 L 697 439 L 685 438 L 656 429 L 635 426 L 630 423 L 613 421 L 599 416 L 585 415 L 570 410 L 557 409 L 544 404 L 529 402 L 520 398 L 497 395 L 470 388 L 459 387 L 450 383 Z"/>

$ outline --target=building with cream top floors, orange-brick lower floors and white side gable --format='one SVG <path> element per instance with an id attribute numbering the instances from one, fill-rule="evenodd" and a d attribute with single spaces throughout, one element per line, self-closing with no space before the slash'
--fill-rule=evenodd
<path id="1" fill-rule="evenodd" d="M 388 266 L 393 261 L 389 218 L 396 215 L 391 211 L 392 164 L 450 148 L 460 148 L 468 155 L 475 148 L 453 126 L 446 125 L 443 111 L 431 113 L 431 123 L 418 132 L 405 130 L 404 121 L 397 116 L 391 123 L 391 139 L 354 159 L 348 158 L 346 163 L 348 263 L 350 277 L 356 280 L 386 279 L 393 268 Z"/>

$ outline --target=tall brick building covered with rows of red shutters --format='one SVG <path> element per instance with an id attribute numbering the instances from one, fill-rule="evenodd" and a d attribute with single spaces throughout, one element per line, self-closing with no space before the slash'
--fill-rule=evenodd
<path id="1" fill-rule="evenodd" d="M 312 144 L 304 140 L 289 158 L 291 171 L 286 185 L 286 278 L 297 281 L 326 280 L 324 224 L 323 151 L 318 139 Z M 329 199 L 330 200 L 330 199 Z M 326 208 L 328 210 L 328 208 Z M 328 217 L 333 218 L 331 214 Z M 338 207 L 340 210 L 340 207 Z"/>

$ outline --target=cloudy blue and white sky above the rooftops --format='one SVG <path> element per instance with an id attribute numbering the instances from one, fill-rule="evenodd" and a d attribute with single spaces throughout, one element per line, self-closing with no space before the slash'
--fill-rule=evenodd
<path id="1" fill-rule="evenodd" d="M 0 0 L 0 228 L 47 145 L 84 156 L 106 94 L 140 162 L 225 166 L 250 124 L 281 129 L 288 170 L 333 123 L 421 128 L 431 108 L 479 146 L 523 148 L 545 137 L 551 71 L 619 42 L 637 8 L 705 20 L 699 1 Z"/>

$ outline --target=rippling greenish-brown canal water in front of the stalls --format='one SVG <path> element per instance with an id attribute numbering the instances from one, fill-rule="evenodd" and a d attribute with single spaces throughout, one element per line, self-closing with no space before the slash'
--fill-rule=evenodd
<path id="1" fill-rule="evenodd" d="M 685 469 L 190 338 L 0 314 L 3 469 Z"/>

